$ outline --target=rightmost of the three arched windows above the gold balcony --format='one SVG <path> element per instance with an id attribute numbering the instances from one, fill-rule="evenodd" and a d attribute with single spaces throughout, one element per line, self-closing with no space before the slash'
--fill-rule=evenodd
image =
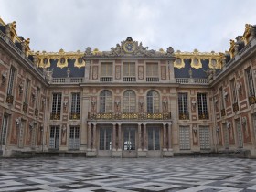
<path id="1" fill-rule="evenodd" d="M 147 112 L 159 112 L 160 98 L 157 91 L 148 91 L 146 95 Z"/>

